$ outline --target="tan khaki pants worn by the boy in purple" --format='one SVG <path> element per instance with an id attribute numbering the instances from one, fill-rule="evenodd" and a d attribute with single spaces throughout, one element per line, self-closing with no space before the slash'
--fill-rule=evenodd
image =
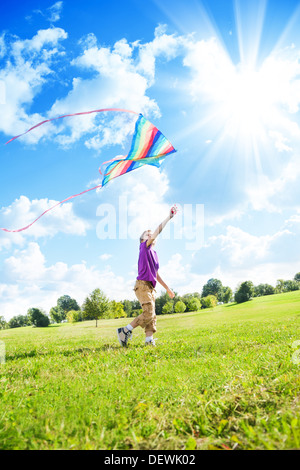
<path id="1" fill-rule="evenodd" d="M 143 313 L 136 317 L 137 326 L 144 328 L 146 335 L 153 334 L 156 332 L 155 289 L 151 282 L 137 280 L 133 290 L 143 310 Z"/>

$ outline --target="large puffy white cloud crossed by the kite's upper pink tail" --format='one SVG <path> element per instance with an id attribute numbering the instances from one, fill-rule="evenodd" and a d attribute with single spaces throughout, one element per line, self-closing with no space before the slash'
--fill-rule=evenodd
<path id="1" fill-rule="evenodd" d="M 75 77 L 68 95 L 53 104 L 51 117 L 95 109 L 95 103 L 100 103 L 101 108 L 122 108 L 159 116 L 156 101 L 148 96 L 148 89 L 155 77 L 156 59 L 174 58 L 181 45 L 180 38 L 166 34 L 159 27 L 153 41 L 146 44 L 140 44 L 139 41 L 129 44 L 123 38 L 111 47 L 98 47 L 93 33 L 82 38 L 80 44 L 84 50 L 72 60 L 71 65 L 94 72 L 93 78 Z M 123 143 L 133 131 L 132 116 L 126 114 L 115 115 L 109 125 L 103 117 L 100 124 L 96 122 L 96 115 L 85 116 L 84 122 L 80 118 L 73 118 L 63 124 L 69 134 L 61 132 L 57 141 L 62 145 L 70 145 L 87 135 L 85 145 L 97 150 L 105 145 Z M 93 136 L 89 137 L 89 133 Z"/>

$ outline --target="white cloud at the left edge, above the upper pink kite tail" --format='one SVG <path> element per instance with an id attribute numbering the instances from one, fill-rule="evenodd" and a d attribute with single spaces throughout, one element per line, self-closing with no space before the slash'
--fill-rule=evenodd
<path id="1" fill-rule="evenodd" d="M 52 75 L 53 58 L 62 53 L 59 43 L 66 37 L 63 29 L 49 28 L 38 31 L 32 39 L 2 38 L 1 50 L 6 62 L 0 70 L 0 81 L 5 87 L 0 131 L 13 136 L 45 119 L 38 113 L 29 114 L 27 109 Z M 51 129 L 51 125 L 40 127 L 23 139 L 36 142 Z"/>

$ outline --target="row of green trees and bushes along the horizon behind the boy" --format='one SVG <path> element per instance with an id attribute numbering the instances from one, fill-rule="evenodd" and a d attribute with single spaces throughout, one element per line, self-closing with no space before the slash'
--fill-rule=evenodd
<path id="1" fill-rule="evenodd" d="M 219 279 L 209 279 L 199 292 L 188 293 L 182 296 L 175 292 L 175 297 L 170 299 L 168 294 L 162 293 L 155 300 L 157 315 L 174 313 L 195 312 L 204 308 L 214 308 L 217 304 L 228 302 L 247 302 L 253 297 L 272 295 L 284 292 L 300 290 L 300 272 L 295 274 L 293 280 L 278 279 L 276 286 L 259 284 L 254 286 L 252 281 L 240 283 L 235 292 L 231 288 L 223 286 Z M 109 300 L 101 289 L 94 289 L 89 294 L 82 306 L 69 295 L 59 297 L 49 314 L 41 308 L 29 308 L 26 315 L 17 315 L 8 322 L 0 316 L 0 329 L 17 328 L 22 326 L 46 327 L 50 323 L 70 322 L 83 320 L 97 321 L 105 318 L 130 318 L 136 317 L 142 312 L 139 301 L 123 300 L 117 302 Z"/>

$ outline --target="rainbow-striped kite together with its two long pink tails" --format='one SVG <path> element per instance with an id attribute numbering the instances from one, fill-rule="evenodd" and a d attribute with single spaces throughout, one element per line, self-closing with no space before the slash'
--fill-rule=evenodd
<path id="1" fill-rule="evenodd" d="M 86 111 L 81 113 L 75 114 L 65 114 L 64 116 L 59 116 L 52 119 L 47 119 L 45 121 L 36 124 L 35 126 L 28 129 L 23 134 L 19 134 L 12 139 L 10 139 L 6 144 L 9 144 L 15 139 L 18 139 L 22 135 L 27 134 L 28 132 L 32 131 L 33 129 L 41 126 L 50 121 L 54 121 L 56 119 L 62 119 L 65 117 L 71 116 L 80 116 L 84 114 L 91 114 L 91 113 L 100 113 L 105 111 L 118 111 L 118 112 L 127 112 L 138 114 L 135 111 L 130 111 L 126 109 L 119 109 L 119 108 L 107 108 L 107 109 L 97 109 L 94 111 Z M 138 118 L 135 123 L 134 134 L 132 137 L 131 148 L 128 155 L 124 157 L 115 157 L 112 160 L 104 162 L 101 165 L 107 165 L 105 168 L 104 173 L 102 173 L 101 168 L 99 168 L 99 172 L 103 175 L 102 183 L 94 186 L 93 188 L 86 189 L 78 194 L 73 194 L 68 198 L 64 199 L 63 201 L 58 202 L 54 206 L 47 209 L 43 212 L 37 219 L 35 219 L 31 224 L 27 225 L 26 227 L 17 229 L 17 230 L 9 230 L 6 228 L 0 228 L 4 232 L 22 232 L 23 230 L 27 230 L 31 227 L 37 220 L 39 220 L 44 214 L 51 211 L 55 207 L 63 204 L 64 202 L 69 201 L 77 196 L 81 196 L 84 193 L 89 191 L 93 191 L 98 188 L 103 188 L 108 182 L 112 179 L 117 178 L 118 176 L 124 175 L 125 173 L 129 173 L 132 170 L 136 170 L 137 168 L 142 167 L 143 165 L 153 165 L 159 167 L 161 162 L 166 158 L 166 156 L 170 155 L 171 153 L 176 152 L 171 142 L 155 127 L 150 121 L 144 118 L 142 114 L 138 115 Z"/>

